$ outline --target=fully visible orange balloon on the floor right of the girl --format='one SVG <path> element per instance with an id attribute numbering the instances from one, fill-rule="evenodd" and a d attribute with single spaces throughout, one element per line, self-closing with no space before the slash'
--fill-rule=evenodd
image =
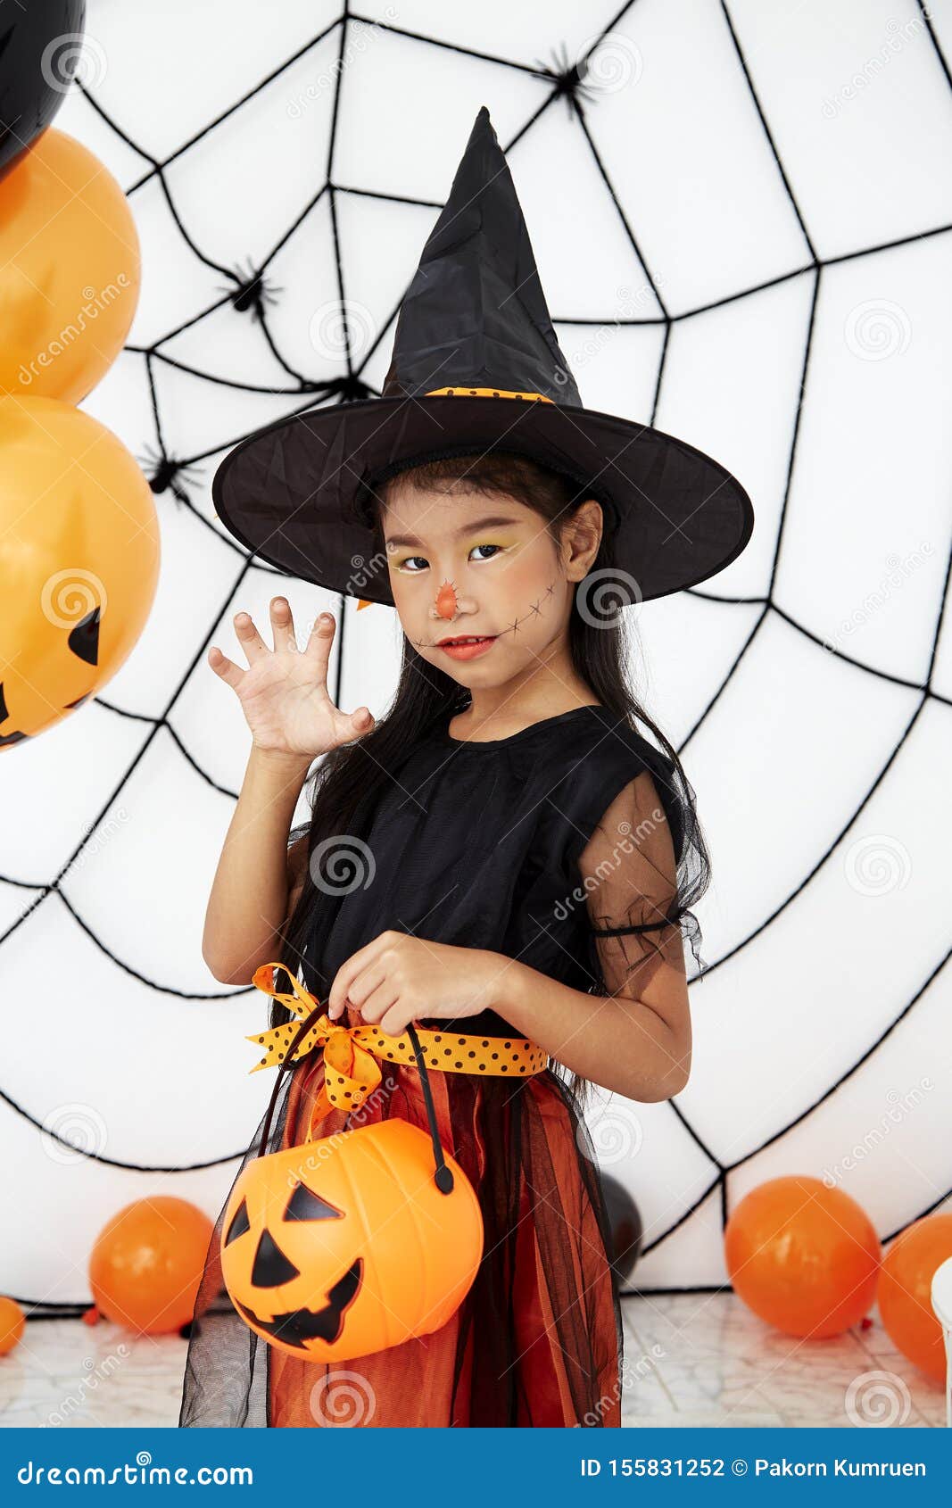
<path id="1" fill-rule="evenodd" d="M 724 1258 L 748 1309 L 785 1335 L 818 1339 L 872 1304 L 880 1240 L 864 1209 L 819 1178 L 771 1178 L 727 1221 Z"/>

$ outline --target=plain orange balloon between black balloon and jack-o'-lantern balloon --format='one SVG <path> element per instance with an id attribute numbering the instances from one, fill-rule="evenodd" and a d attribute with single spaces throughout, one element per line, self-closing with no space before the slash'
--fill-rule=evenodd
<path id="1" fill-rule="evenodd" d="M 48 127 L 0 181 L 0 392 L 80 403 L 122 350 L 139 270 L 119 184 Z"/>

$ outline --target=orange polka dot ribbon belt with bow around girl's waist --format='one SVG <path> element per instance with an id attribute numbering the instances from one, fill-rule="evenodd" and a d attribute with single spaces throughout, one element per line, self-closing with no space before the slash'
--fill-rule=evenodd
<path id="1" fill-rule="evenodd" d="M 261 1068 L 273 1068 L 284 1063 L 288 1047 L 300 1022 L 311 1015 L 318 1000 L 305 989 L 299 979 L 285 968 L 291 980 L 293 995 L 282 994 L 275 986 L 273 971 L 285 968 L 284 964 L 263 964 L 252 976 L 252 985 L 281 1001 L 297 1024 L 288 1021 L 285 1025 L 272 1027 L 249 1036 L 264 1048 L 264 1057 L 255 1063 L 250 1074 Z M 522 1078 L 542 1074 L 548 1068 L 549 1056 L 528 1038 L 484 1038 L 478 1034 L 463 1034 L 450 1031 L 431 1031 L 416 1027 L 416 1036 L 422 1048 L 428 1068 L 439 1068 L 448 1074 L 487 1074 L 490 1077 Z M 356 1110 L 368 1095 L 377 1087 L 382 1078 L 377 1059 L 389 1059 L 392 1063 L 407 1063 L 416 1066 L 416 1054 L 407 1031 L 400 1036 L 389 1036 L 373 1022 L 356 1027 L 341 1025 L 332 1021 L 327 1013 L 317 1018 L 309 1031 L 303 1034 L 294 1050 L 294 1060 L 306 1057 L 315 1047 L 324 1050 L 324 1083 L 314 1105 L 314 1119 L 318 1119 L 330 1105 L 335 1110 Z"/>

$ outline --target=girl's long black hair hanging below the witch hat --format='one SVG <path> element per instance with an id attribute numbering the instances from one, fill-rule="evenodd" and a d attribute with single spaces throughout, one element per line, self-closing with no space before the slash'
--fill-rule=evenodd
<path id="1" fill-rule="evenodd" d="M 383 510 L 394 475 L 377 481 L 370 504 L 365 504 L 368 510 L 365 517 L 374 528 L 377 558 L 380 559 L 386 558 Z M 404 466 L 401 475 L 421 489 L 442 487 L 465 480 L 466 487 L 472 492 L 516 499 L 540 516 L 557 549 L 573 511 L 587 498 L 597 498 L 597 492 L 591 487 L 579 487 L 576 481 L 551 470 L 531 457 L 505 451 L 427 460 L 421 464 Z M 611 538 L 607 528 L 602 532 L 591 572 L 610 567 Z M 576 588 L 576 596 L 582 585 L 584 582 Z M 629 685 L 628 668 L 634 664 L 634 648 L 628 638 L 623 614 L 619 612 L 614 621 L 607 623 L 590 621 L 591 617 L 590 612 L 579 614 L 573 603 L 569 620 L 569 650 L 578 676 L 591 689 L 597 703 L 616 715 L 616 719 L 626 718 L 635 731 L 641 731 L 643 727 L 649 728 L 671 763 L 670 790 L 677 802 L 682 829 L 674 918 L 689 936 L 697 959 L 700 927 L 689 908 L 708 888 L 711 861 L 697 820 L 694 790 L 683 772 L 677 751 L 638 703 Z M 388 712 L 377 721 L 371 733 L 326 754 L 308 777 L 311 817 L 290 834 L 293 843 L 308 834 L 308 864 L 305 866 L 300 897 L 284 929 L 284 947 L 279 955 L 281 962 L 291 973 L 297 974 L 302 967 L 303 950 L 314 921 L 314 906 L 326 899 L 317 891 L 311 873 L 309 860 L 315 846 L 338 834 L 358 832 L 389 781 L 388 771 L 397 766 L 407 746 L 430 727 L 438 724 L 445 727 L 457 712 L 463 712 L 468 706 L 469 691 L 451 676 L 430 665 L 404 635 L 400 679 Z M 330 982 L 326 988 L 330 988 Z M 284 1025 L 290 1019 L 285 1007 L 272 1001 L 272 1025 Z M 584 1095 L 588 1087 L 588 1081 L 579 1075 L 572 1075 L 569 1083 L 579 1095 Z"/>

